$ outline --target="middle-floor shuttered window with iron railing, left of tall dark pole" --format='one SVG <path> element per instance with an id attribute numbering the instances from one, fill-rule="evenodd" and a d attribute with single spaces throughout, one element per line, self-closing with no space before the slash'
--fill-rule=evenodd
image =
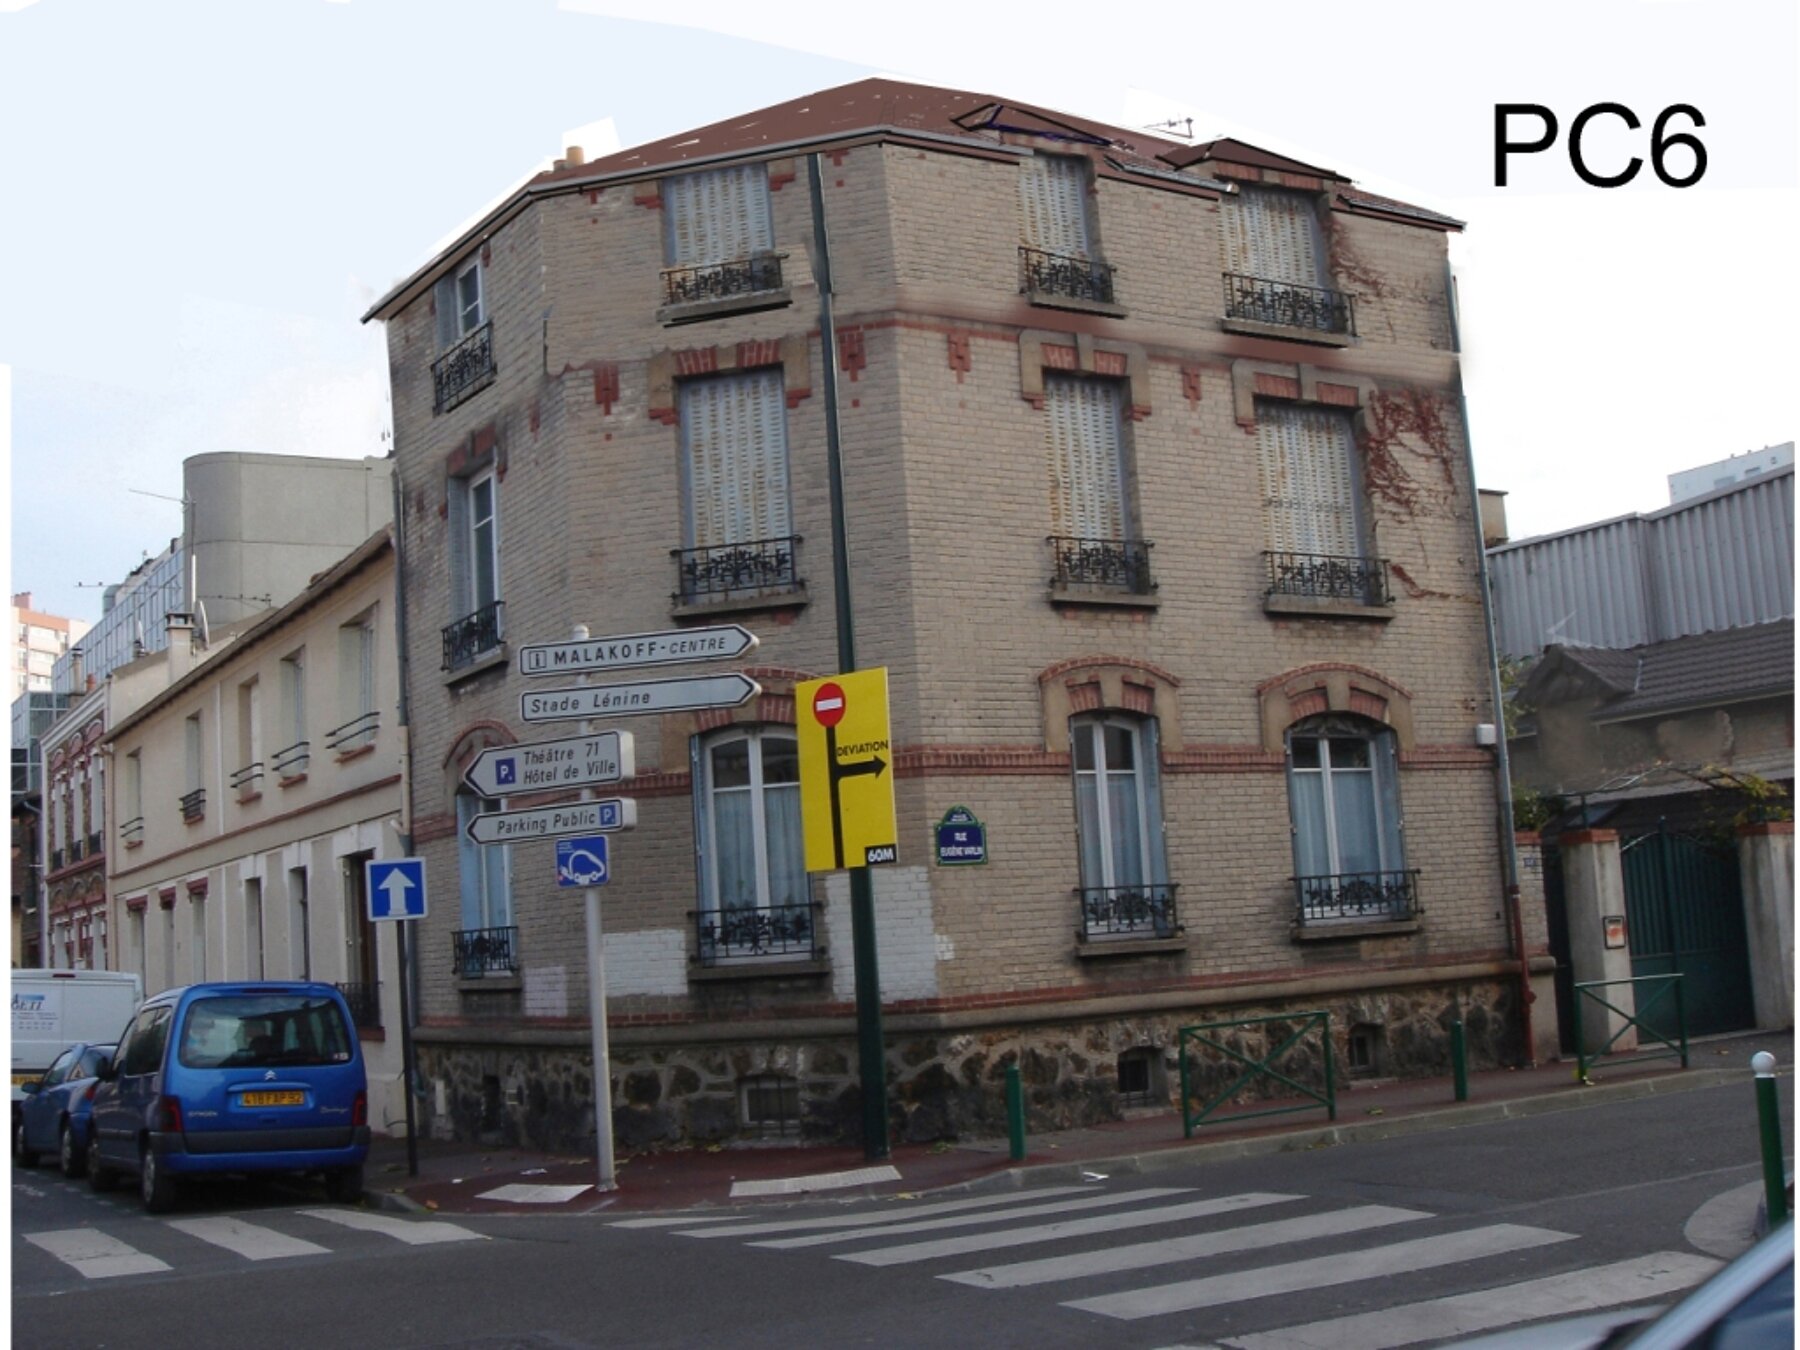
<path id="1" fill-rule="evenodd" d="M 799 587 L 779 367 L 680 385 L 680 599 Z"/>

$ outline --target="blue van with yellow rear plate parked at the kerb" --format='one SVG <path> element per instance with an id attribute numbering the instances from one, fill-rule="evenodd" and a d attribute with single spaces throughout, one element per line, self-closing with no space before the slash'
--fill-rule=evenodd
<path id="1" fill-rule="evenodd" d="M 322 1172 L 362 1195 L 369 1080 L 331 985 L 189 985 L 146 999 L 94 1091 L 88 1183 L 135 1174 L 169 1210 L 184 1175 Z"/>

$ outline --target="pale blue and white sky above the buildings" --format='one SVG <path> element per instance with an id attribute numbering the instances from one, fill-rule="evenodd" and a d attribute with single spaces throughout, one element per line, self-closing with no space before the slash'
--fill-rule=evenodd
<path id="1" fill-rule="evenodd" d="M 679 13 L 679 23 L 671 14 Z M 101 612 L 180 533 L 180 463 L 382 455 L 360 317 L 549 167 L 866 76 L 1127 128 L 1193 119 L 1469 223 L 1476 477 L 1514 538 L 1665 506 L 1795 439 L 1791 0 L 765 5 L 0 0 L 0 457 L 11 587 Z M 1557 144 L 1494 182 L 1496 104 Z M 1584 184 L 1568 131 L 1589 119 Z M 1706 167 L 1658 180 L 1652 124 Z M 1537 128 L 1514 122 L 1516 139 Z M 1692 175 L 1674 146 L 1665 171 Z"/>

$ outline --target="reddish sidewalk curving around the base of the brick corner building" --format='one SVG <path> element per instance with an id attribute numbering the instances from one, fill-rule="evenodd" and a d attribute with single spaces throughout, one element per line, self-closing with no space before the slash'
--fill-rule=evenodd
<path id="1" fill-rule="evenodd" d="M 1742 1084 L 1746 1130 L 1753 1132 L 1750 1057 L 1762 1049 L 1775 1055 L 1778 1073 L 1793 1069 L 1791 1035 L 1759 1031 L 1714 1037 L 1690 1042 L 1687 1069 L 1674 1058 L 1634 1062 L 1634 1057 L 1622 1055 L 1595 1066 L 1593 1082 L 1586 1085 L 1575 1080 L 1575 1060 L 1474 1073 L 1469 1076 L 1467 1102 L 1454 1100 L 1447 1076 L 1352 1084 L 1337 1093 L 1336 1123 L 1319 1107 L 1242 1125 L 1202 1125 L 1193 1139 L 1183 1139 L 1181 1118 L 1174 1111 L 1147 1112 L 1089 1129 L 1033 1134 L 1026 1139 L 1026 1159 L 1017 1165 L 1008 1157 L 1006 1139 L 896 1145 L 889 1163 L 866 1161 L 860 1147 L 743 1143 L 659 1148 L 621 1154 L 616 1159 L 619 1186 L 610 1193 L 594 1190 L 598 1168 L 590 1156 L 479 1148 L 441 1139 L 419 1139 L 419 1174 L 409 1177 L 405 1139 L 382 1138 L 369 1152 L 365 1202 L 409 1213 L 619 1213 L 767 1199 L 788 1202 L 801 1193 L 855 1199 L 952 1186 L 1017 1188 L 1080 1179 L 1084 1172 L 1152 1172 L 1206 1159 L 1384 1139 L 1721 1084 Z M 826 1188 L 821 1186 L 824 1181 L 841 1184 Z M 493 1197 L 491 1192 L 500 1188 L 506 1188 L 502 1195 Z M 745 1195 L 745 1188 L 763 1195 Z"/>

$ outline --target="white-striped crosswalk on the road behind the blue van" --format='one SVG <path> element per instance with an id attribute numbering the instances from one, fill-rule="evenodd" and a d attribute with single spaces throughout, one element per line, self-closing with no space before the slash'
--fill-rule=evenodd
<path id="1" fill-rule="evenodd" d="M 259 1213 L 257 1219 L 261 1222 L 236 1215 L 131 1219 L 119 1224 L 124 1237 L 103 1228 L 61 1228 L 18 1237 L 85 1280 L 178 1271 L 202 1264 L 216 1249 L 248 1262 L 326 1256 L 342 1249 L 346 1240 L 367 1244 L 369 1238 L 362 1235 L 405 1246 L 486 1240 L 482 1233 L 441 1219 L 401 1219 L 364 1210 L 286 1210 Z M 338 1233 L 344 1237 L 337 1237 Z M 356 1237 L 349 1237 L 351 1233 Z"/>

